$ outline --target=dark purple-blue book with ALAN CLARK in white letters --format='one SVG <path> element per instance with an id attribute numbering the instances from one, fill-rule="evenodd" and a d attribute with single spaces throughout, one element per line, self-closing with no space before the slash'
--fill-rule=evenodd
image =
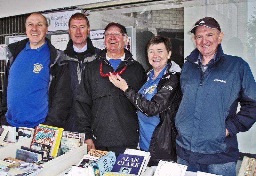
<path id="1" fill-rule="evenodd" d="M 119 154 L 111 172 L 131 173 L 139 176 L 144 163 L 144 156 Z"/>

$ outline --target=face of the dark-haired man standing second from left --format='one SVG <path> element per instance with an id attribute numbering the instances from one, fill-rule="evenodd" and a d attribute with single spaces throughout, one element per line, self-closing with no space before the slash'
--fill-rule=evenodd
<path id="1" fill-rule="evenodd" d="M 73 41 L 73 44 L 82 49 L 86 45 L 86 39 L 90 33 L 86 20 L 72 19 L 68 28 L 68 33 Z"/>

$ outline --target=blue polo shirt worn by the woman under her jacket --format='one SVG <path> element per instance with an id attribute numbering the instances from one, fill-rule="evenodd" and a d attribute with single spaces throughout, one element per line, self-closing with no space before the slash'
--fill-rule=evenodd
<path id="1" fill-rule="evenodd" d="M 153 79 L 154 70 L 152 70 L 152 72 L 148 76 L 148 81 L 139 90 L 139 93 L 142 94 L 142 96 L 145 99 L 151 100 L 152 97 L 156 94 L 157 84 L 159 83 L 162 76 L 164 75 L 164 71 L 166 70 L 167 66 L 168 64 L 159 73 L 156 79 Z M 152 134 L 156 128 L 156 125 L 159 124 L 160 118 L 159 118 L 159 115 L 148 117 L 139 110 L 137 110 L 137 114 L 138 114 L 139 125 L 140 125 L 139 147 L 144 151 L 148 151 Z"/>

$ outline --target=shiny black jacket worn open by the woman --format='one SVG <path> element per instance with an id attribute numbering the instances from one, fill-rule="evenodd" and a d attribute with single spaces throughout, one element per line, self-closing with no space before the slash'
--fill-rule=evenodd
<path id="1" fill-rule="evenodd" d="M 150 75 L 152 70 L 150 69 L 147 75 Z M 157 84 L 157 93 L 151 100 L 143 98 L 140 93 L 130 87 L 124 92 L 130 102 L 147 115 L 149 120 L 150 117 L 159 114 L 160 122 L 152 134 L 148 149 L 151 153 L 149 166 L 157 165 L 159 160 L 177 161 L 175 150 L 177 131 L 174 126 L 174 116 L 181 100 L 180 70 L 175 62 L 169 63 Z"/>

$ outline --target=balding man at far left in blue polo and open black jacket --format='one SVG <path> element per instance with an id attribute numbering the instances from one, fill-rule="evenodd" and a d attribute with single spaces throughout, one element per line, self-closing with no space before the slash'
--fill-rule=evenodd
<path id="1" fill-rule="evenodd" d="M 38 12 L 26 20 L 28 39 L 9 44 L 1 115 L 3 125 L 62 127 L 71 106 L 64 53 L 45 38 L 46 18 Z"/>

